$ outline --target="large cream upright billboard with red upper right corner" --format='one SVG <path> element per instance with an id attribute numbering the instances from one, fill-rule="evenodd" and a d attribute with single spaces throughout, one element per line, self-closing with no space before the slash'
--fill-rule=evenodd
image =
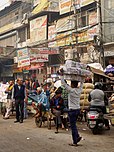
<path id="1" fill-rule="evenodd" d="M 47 39 L 47 16 L 30 21 L 30 41 L 38 42 Z"/>

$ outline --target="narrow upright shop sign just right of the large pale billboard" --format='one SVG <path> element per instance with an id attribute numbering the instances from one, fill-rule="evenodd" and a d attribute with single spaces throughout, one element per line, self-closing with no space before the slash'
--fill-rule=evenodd
<path id="1" fill-rule="evenodd" d="M 57 32 L 56 32 L 56 26 L 55 25 L 52 25 L 52 26 L 49 26 L 48 27 L 48 40 L 50 41 L 53 41 L 56 39 L 56 35 L 57 35 Z M 49 42 L 48 43 L 48 47 L 56 47 L 56 41 L 54 42 Z"/>

